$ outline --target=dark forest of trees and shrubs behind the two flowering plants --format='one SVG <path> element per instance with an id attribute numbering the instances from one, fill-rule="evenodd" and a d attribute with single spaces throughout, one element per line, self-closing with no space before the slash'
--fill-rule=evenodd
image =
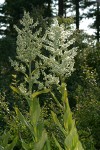
<path id="1" fill-rule="evenodd" d="M 58 8 L 58 9 L 57 9 Z M 87 13 L 81 15 L 81 10 Z M 76 119 L 77 129 L 86 150 L 100 150 L 100 2 L 96 0 L 5 0 L 0 6 L 0 132 L 7 128 L 13 106 L 27 109 L 21 97 L 10 89 L 14 70 L 9 62 L 16 56 L 17 33 L 14 25 L 20 27 L 24 10 L 30 13 L 34 21 L 39 20 L 44 32 L 53 17 L 60 23 L 76 26 L 74 37 L 78 54 L 75 58 L 75 71 L 66 81 L 70 107 Z M 67 13 L 75 16 L 67 17 Z M 90 28 L 94 35 L 80 30 L 83 18 L 93 18 Z M 21 75 L 20 75 L 21 78 Z M 48 96 L 42 96 L 48 106 Z M 18 100 L 19 99 L 19 100 Z M 44 102 L 41 101 L 41 106 Z"/>

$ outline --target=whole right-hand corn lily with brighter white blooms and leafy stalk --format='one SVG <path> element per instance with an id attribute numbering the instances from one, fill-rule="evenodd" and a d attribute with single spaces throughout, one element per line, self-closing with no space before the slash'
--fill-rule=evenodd
<path id="1" fill-rule="evenodd" d="M 73 31 L 71 29 L 66 29 L 63 24 L 59 25 L 57 19 L 54 19 L 53 24 L 46 31 L 46 39 L 44 41 L 44 47 L 49 52 L 49 57 L 43 56 L 44 63 L 50 69 L 50 74 L 45 75 L 46 84 L 50 85 L 54 78 L 58 80 L 58 89 L 62 95 L 60 103 L 51 92 L 57 105 L 63 112 L 62 125 L 57 115 L 52 111 L 53 120 L 65 137 L 64 147 L 62 148 L 59 141 L 53 135 L 53 139 L 59 150 L 83 150 L 79 141 L 75 121 L 72 118 L 65 84 L 65 79 L 74 71 L 74 57 L 77 54 L 77 48 L 74 47 L 75 39 L 70 39 L 72 34 Z"/>

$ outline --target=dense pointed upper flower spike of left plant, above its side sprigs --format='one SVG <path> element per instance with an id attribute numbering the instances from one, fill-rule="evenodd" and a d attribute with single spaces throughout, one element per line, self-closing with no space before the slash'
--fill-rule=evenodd
<path id="1" fill-rule="evenodd" d="M 30 18 L 29 13 L 24 13 L 23 20 L 20 21 L 23 26 L 19 29 L 15 26 L 18 36 L 17 36 L 17 58 L 23 62 L 29 62 L 30 60 L 35 60 L 35 58 L 40 54 L 40 49 L 42 47 L 42 38 L 39 36 L 41 33 L 41 28 L 39 28 L 33 34 L 33 30 L 38 25 L 38 22 L 33 24 L 33 19 Z"/>

